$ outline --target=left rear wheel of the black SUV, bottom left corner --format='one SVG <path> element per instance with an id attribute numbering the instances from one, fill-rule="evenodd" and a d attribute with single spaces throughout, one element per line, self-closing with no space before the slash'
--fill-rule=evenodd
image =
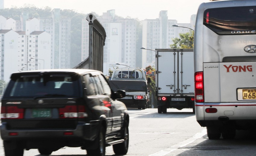
<path id="1" fill-rule="evenodd" d="M 5 150 L 5 156 L 23 156 L 24 154 L 24 149 L 16 141 L 4 140 L 4 150 Z"/>

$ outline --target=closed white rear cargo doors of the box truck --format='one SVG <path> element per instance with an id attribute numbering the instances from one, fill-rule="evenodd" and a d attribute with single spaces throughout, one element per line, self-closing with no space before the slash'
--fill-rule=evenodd
<path id="1" fill-rule="evenodd" d="M 193 49 L 156 49 L 158 94 L 194 94 Z"/>

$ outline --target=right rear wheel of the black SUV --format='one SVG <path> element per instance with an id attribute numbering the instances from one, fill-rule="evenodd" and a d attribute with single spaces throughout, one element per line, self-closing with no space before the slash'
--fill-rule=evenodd
<path id="1" fill-rule="evenodd" d="M 100 128 L 98 137 L 95 139 L 97 141 L 96 149 L 87 149 L 88 156 L 105 156 L 106 152 L 106 140 L 105 140 L 105 131 L 103 128 Z"/>

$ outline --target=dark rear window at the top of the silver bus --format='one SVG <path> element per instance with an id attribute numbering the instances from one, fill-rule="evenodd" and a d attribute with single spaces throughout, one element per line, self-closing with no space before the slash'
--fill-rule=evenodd
<path id="1" fill-rule="evenodd" d="M 256 6 L 207 9 L 204 25 L 219 35 L 256 34 Z"/>

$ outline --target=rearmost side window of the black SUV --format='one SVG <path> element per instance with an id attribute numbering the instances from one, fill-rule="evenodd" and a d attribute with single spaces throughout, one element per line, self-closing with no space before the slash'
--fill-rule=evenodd
<path id="1" fill-rule="evenodd" d="M 88 96 L 94 96 L 97 95 L 98 90 L 95 85 L 94 78 L 90 74 L 86 74 L 83 76 L 84 82 L 85 82 L 85 87 L 86 87 L 86 95 Z"/>

